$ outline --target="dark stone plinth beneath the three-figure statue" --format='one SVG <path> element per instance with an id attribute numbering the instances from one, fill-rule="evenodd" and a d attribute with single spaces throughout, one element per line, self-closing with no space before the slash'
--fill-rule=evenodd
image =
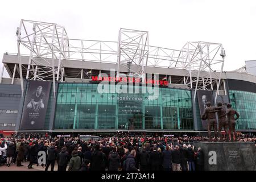
<path id="1" fill-rule="evenodd" d="M 206 171 L 256 171 L 253 142 L 194 142 L 204 154 Z"/>

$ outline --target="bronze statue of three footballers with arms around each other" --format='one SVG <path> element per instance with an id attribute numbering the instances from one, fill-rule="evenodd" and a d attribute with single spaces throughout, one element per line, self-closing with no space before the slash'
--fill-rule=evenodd
<path id="1" fill-rule="evenodd" d="M 214 130 L 214 142 L 217 142 L 217 121 L 215 113 L 218 113 L 218 135 L 220 137 L 220 142 L 223 141 L 221 130 L 224 127 L 225 136 L 226 136 L 226 142 L 228 142 L 229 134 L 228 134 L 228 127 L 231 134 L 231 142 L 234 141 L 234 135 L 235 135 L 235 141 L 237 141 L 237 134 L 236 134 L 236 120 L 240 117 L 240 115 L 237 113 L 236 110 L 232 108 L 231 104 L 226 105 L 228 109 L 225 109 L 225 106 L 218 102 L 217 107 L 211 106 L 210 102 L 207 102 L 207 107 L 204 109 L 204 113 L 202 115 L 202 119 L 207 119 L 207 127 L 208 127 L 208 137 L 209 142 L 212 142 L 212 134 L 211 130 L 213 127 Z M 226 117 L 227 115 L 227 117 Z M 236 118 L 234 117 L 236 115 Z"/>

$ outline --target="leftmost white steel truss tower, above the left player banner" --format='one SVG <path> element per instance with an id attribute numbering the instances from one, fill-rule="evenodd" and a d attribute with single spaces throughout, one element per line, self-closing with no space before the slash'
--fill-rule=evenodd
<path id="1" fill-rule="evenodd" d="M 53 92 L 55 81 L 63 79 L 64 67 L 61 60 L 67 57 L 68 36 L 65 28 L 56 23 L 35 22 L 31 20 L 21 20 L 17 28 L 18 37 L 18 60 L 20 81 L 23 90 L 22 63 L 20 52 L 23 49 L 30 51 L 26 79 L 43 80 L 51 78 L 53 81 Z M 59 60 L 55 63 L 55 59 Z M 61 80 L 60 79 L 60 80 Z"/>

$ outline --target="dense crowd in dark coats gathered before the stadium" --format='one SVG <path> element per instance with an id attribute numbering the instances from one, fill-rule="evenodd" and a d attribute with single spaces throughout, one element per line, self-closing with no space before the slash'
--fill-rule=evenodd
<path id="1" fill-rule="evenodd" d="M 27 135 L 2 138 L 0 164 L 33 165 L 53 171 L 195 171 L 204 169 L 204 154 L 193 142 L 207 141 L 207 137 L 146 137 L 115 135 L 99 140 L 82 140 Z M 256 142 L 256 137 L 240 137 L 241 142 Z M 38 163 L 39 151 L 47 154 L 46 162 Z"/>

